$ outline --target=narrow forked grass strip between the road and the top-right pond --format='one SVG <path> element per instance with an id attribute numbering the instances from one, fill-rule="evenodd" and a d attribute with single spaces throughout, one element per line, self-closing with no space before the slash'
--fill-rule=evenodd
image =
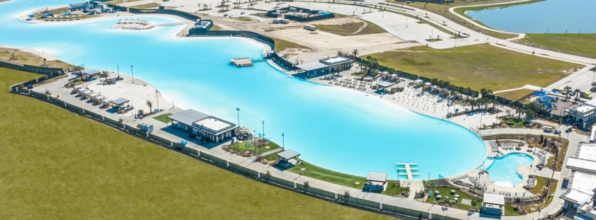
<path id="1" fill-rule="evenodd" d="M 511 0 L 511 1 L 515 1 L 515 0 Z M 541 0 L 537 0 L 537 1 L 541 1 Z M 396 2 L 396 1 L 390 1 L 390 2 L 395 5 L 402 4 L 401 2 Z M 410 6 L 410 7 L 414 7 L 414 8 L 422 8 L 426 11 L 431 11 L 431 12 L 441 15 L 453 22 L 456 22 L 460 25 L 464 25 L 472 30 L 476 30 L 480 33 L 484 33 L 485 35 L 490 35 L 492 37 L 497 37 L 500 39 L 508 39 L 508 38 L 512 38 L 512 37 L 517 37 L 517 35 L 514 35 L 514 34 L 499 33 L 499 32 L 495 32 L 495 31 L 491 31 L 491 30 L 485 30 L 485 29 L 480 28 L 476 25 L 468 23 L 467 21 L 463 20 L 462 18 L 460 18 L 448 11 L 449 8 L 455 7 L 455 6 L 473 6 L 473 5 L 478 5 L 478 4 L 492 4 L 492 3 L 501 3 L 501 2 L 503 2 L 503 1 L 500 1 L 500 0 L 456 1 L 453 4 L 432 4 L 432 3 L 426 4 L 424 2 L 409 2 L 408 4 L 404 4 L 404 6 Z M 455 11 L 456 11 L 456 13 L 460 13 L 461 15 L 465 16 L 465 13 L 464 13 L 465 11 L 479 10 L 481 8 L 490 8 L 490 7 L 495 7 L 495 6 L 477 6 L 477 7 L 470 7 L 470 8 L 468 8 L 468 7 L 457 8 Z M 478 23 L 480 23 L 480 22 L 478 22 Z M 480 24 L 482 24 L 482 23 L 480 23 Z"/>

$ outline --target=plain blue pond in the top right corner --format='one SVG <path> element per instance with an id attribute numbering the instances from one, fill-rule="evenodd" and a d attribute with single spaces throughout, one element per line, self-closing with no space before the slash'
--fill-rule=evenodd
<path id="1" fill-rule="evenodd" d="M 466 14 L 491 28 L 515 33 L 596 33 L 595 8 L 593 0 L 546 0 Z"/>

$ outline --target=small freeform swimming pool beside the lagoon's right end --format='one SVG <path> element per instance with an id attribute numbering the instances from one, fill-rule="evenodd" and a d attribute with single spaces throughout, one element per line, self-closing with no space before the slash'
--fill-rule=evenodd
<path id="1" fill-rule="evenodd" d="M 534 161 L 534 158 L 524 153 L 509 153 L 504 156 L 489 158 L 485 164 L 490 164 L 485 170 L 490 178 L 495 182 L 511 183 L 517 185 L 522 183 L 522 175 L 517 173 L 517 168 L 522 165 L 528 165 Z"/>

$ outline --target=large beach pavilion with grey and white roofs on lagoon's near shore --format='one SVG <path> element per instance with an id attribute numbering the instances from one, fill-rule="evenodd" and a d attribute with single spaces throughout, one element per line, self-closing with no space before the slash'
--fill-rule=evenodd
<path id="1" fill-rule="evenodd" d="M 214 142 L 235 137 L 238 128 L 238 125 L 232 122 L 192 109 L 169 115 L 167 118 L 172 120 L 172 126 L 184 129 L 191 137 Z"/>

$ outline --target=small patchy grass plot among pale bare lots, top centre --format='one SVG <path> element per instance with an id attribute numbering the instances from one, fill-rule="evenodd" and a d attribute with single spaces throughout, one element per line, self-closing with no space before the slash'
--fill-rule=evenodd
<path id="1" fill-rule="evenodd" d="M 366 26 L 362 30 L 360 30 L 360 28 L 362 28 L 363 25 Z M 370 23 L 368 21 L 344 23 L 341 25 L 316 25 L 316 28 L 321 31 L 341 36 L 387 33 L 387 31 L 381 28 L 379 25 L 375 25 L 375 23 Z"/>

